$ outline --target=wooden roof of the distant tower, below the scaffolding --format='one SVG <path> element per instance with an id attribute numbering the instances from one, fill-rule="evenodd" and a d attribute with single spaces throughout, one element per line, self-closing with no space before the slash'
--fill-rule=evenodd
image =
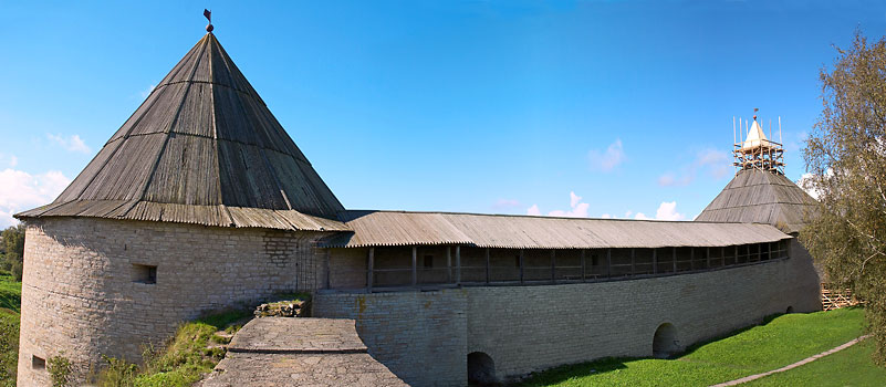
<path id="1" fill-rule="evenodd" d="M 698 221 L 769 223 L 799 232 L 815 199 L 784 175 L 744 169 L 696 218 Z"/>

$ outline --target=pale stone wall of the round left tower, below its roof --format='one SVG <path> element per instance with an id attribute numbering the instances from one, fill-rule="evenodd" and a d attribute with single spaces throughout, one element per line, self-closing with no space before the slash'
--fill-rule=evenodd
<path id="1" fill-rule="evenodd" d="M 319 233 L 51 218 L 27 223 L 19 385 L 46 385 L 32 355 L 138 360 L 204 311 L 317 286 Z M 156 265 L 156 284 L 134 282 Z"/>

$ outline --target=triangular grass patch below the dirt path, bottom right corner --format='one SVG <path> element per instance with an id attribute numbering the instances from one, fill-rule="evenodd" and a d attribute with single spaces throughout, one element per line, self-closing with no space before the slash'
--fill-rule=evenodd
<path id="1" fill-rule="evenodd" d="M 867 339 L 815 362 L 742 386 L 886 386 L 886 368 L 871 362 L 875 345 L 873 339 Z"/>

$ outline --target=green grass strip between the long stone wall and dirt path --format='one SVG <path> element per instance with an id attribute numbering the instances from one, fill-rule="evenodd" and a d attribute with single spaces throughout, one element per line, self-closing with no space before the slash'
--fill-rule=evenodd
<path id="1" fill-rule="evenodd" d="M 709 386 L 831 349 L 859 336 L 863 327 L 862 308 L 781 315 L 729 337 L 694 346 L 676 359 L 607 358 L 534 374 L 522 385 Z"/>

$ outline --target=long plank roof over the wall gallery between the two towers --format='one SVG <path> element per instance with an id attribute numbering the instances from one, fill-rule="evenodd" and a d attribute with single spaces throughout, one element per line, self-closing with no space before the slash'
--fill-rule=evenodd
<path id="1" fill-rule="evenodd" d="M 458 212 L 342 212 L 353 233 L 331 248 L 467 244 L 509 249 L 725 247 L 790 239 L 769 224 L 553 218 Z"/>

